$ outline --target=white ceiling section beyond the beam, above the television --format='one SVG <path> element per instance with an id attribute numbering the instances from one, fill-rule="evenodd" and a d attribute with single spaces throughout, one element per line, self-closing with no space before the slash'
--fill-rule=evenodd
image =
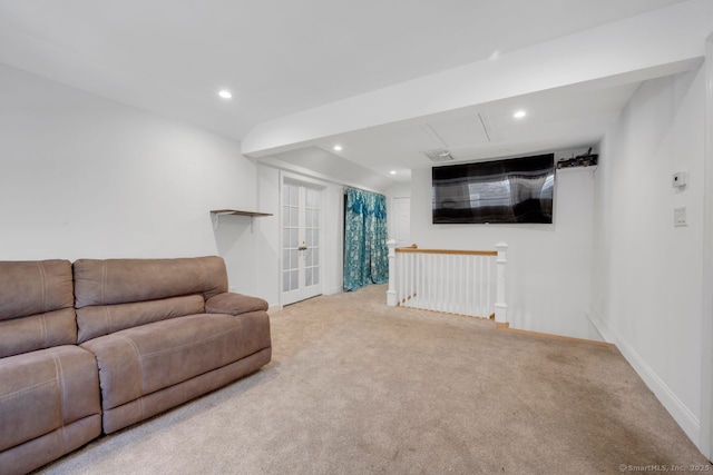
<path id="1" fill-rule="evenodd" d="M 470 107 L 407 122 L 374 127 L 318 140 L 332 154 L 361 162 L 394 179 L 433 162 L 424 151 L 447 150 L 453 161 L 567 151 L 595 146 L 628 102 L 638 82 L 603 89 L 563 88 Z M 515 119 L 516 110 L 527 110 Z M 290 152 L 281 155 L 289 160 Z"/>

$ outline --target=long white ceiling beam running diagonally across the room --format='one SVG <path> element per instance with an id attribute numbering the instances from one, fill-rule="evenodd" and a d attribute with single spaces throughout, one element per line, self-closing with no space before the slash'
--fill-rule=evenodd
<path id="1" fill-rule="evenodd" d="M 704 56 L 713 2 L 692 0 L 255 126 L 264 157 L 315 140 L 561 87 L 613 87 L 682 72 Z"/>

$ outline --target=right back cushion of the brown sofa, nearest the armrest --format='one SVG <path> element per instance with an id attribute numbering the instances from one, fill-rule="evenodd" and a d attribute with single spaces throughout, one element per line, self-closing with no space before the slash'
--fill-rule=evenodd
<path id="1" fill-rule="evenodd" d="M 79 259 L 74 264 L 79 343 L 152 321 L 205 311 L 227 291 L 221 257 Z"/>

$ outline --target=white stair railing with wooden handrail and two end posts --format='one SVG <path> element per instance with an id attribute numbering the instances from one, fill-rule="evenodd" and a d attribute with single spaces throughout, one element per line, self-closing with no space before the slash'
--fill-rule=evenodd
<path id="1" fill-rule="evenodd" d="M 389 245 L 387 305 L 507 321 L 507 245 L 497 250 L 419 249 Z"/>

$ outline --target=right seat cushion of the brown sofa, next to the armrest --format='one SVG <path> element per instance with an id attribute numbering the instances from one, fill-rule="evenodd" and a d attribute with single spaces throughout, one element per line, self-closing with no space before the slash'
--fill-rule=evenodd
<path id="1" fill-rule="evenodd" d="M 189 315 L 127 328 L 81 347 L 97 358 L 107 410 L 270 347 L 270 321 L 264 311 Z"/>

